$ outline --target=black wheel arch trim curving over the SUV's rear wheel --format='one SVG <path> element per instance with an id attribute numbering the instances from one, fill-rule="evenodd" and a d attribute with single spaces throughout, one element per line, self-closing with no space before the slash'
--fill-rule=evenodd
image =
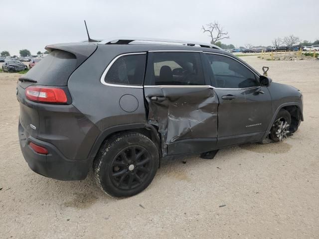
<path id="1" fill-rule="evenodd" d="M 161 158 L 161 143 L 160 143 L 160 133 L 158 132 L 157 128 L 152 124 L 147 123 L 130 123 L 130 124 L 121 124 L 109 127 L 103 130 L 95 140 L 90 153 L 89 158 L 94 159 L 97 155 L 99 149 L 103 142 L 113 136 L 116 133 L 120 132 L 140 132 L 145 136 L 149 137 L 157 146 L 159 151 L 159 160 Z"/>

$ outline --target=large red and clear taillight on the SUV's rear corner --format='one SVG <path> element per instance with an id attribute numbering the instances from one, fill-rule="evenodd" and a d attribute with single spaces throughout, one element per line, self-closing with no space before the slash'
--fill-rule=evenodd
<path id="1" fill-rule="evenodd" d="M 60 88 L 45 88 L 29 86 L 25 89 L 25 96 L 30 101 L 44 103 L 66 103 L 65 92 Z"/>

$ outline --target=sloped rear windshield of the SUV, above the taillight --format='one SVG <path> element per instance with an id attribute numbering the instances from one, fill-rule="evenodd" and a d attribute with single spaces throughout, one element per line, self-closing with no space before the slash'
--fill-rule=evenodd
<path id="1" fill-rule="evenodd" d="M 39 61 L 25 77 L 40 85 L 66 86 L 76 68 L 76 57 L 69 52 L 54 50 Z"/>

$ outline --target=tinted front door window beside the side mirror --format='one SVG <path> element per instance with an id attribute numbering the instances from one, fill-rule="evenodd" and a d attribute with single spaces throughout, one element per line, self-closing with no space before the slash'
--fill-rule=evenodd
<path id="1" fill-rule="evenodd" d="M 226 56 L 206 54 L 216 88 L 248 88 L 258 86 L 255 74 Z"/>

